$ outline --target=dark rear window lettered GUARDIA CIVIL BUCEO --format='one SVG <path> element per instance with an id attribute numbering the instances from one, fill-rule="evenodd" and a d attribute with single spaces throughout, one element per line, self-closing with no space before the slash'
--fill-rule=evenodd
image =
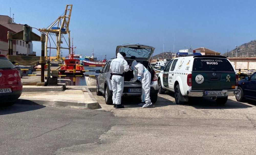
<path id="1" fill-rule="evenodd" d="M 233 66 L 223 58 L 195 58 L 192 71 L 234 72 Z"/>

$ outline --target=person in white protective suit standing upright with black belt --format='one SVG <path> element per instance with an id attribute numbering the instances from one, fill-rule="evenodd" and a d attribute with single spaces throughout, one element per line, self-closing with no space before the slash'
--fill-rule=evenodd
<path id="1" fill-rule="evenodd" d="M 124 90 L 124 72 L 129 71 L 129 65 L 127 61 L 124 60 L 126 54 L 124 52 L 120 52 L 117 54 L 117 58 L 113 59 L 110 63 L 110 69 L 112 71 L 112 90 L 113 90 L 113 104 L 114 108 L 124 108 L 121 105 L 121 96 Z"/>

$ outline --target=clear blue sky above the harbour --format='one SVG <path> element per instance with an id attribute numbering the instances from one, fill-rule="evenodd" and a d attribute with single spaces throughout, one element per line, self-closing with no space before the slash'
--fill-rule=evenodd
<path id="1" fill-rule="evenodd" d="M 0 15 L 9 16 L 11 7 L 15 22 L 36 28 L 47 27 L 64 12 L 66 4 L 73 4 L 70 30 L 76 53 L 91 55 L 94 48 L 100 59 L 105 54 L 108 59 L 114 57 L 116 46 L 126 43 L 151 45 L 156 48 L 154 55 L 163 51 L 163 43 L 165 51 L 173 51 L 175 44 L 175 52 L 193 45 L 225 53 L 256 39 L 253 0 L 0 0 L 0 4 Z M 40 43 L 33 44 L 40 54 Z"/>

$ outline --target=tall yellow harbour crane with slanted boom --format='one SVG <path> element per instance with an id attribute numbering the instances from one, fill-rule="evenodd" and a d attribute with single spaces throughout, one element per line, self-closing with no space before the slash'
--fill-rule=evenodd
<path id="1" fill-rule="evenodd" d="M 47 55 L 47 49 L 56 49 L 57 50 L 57 59 L 60 59 L 60 51 L 61 49 L 68 49 L 69 54 L 70 54 L 70 31 L 69 31 L 69 21 L 70 21 L 70 16 L 71 16 L 71 11 L 72 11 L 72 4 L 67 4 L 66 9 L 64 13 L 59 16 L 53 23 L 50 24 L 45 29 L 39 29 L 42 32 L 46 33 L 46 42 L 45 42 L 45 56 Z M 66 41 L 64 34 L 68 35 L 68 42 Z M 56 47 L 48 47 L 48 37 L 51 37 L 49 35 L 54 35 L 56 36 L 56 42 L 52 39 Z M 52 38 L 52 37 L 51 37 Z M 68 47 L 62 47 L 61 44 L 62 38 L 64 38 L 65 42 L 67 43 Z M 50 38 L 49 38 L 50 39 Z"/>

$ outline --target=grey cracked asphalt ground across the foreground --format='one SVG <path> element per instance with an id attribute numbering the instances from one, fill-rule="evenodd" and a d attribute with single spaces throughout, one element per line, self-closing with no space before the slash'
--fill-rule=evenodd
<path id="1" fill-rule="evenodd" d="M 256 102 L 176 105 L 166 94 L 148 108 L 128 97 L 124 109 L 114 109 L 95 98 L 98 110 L 0 108 L 0 154 L 256 154 Z"/>

